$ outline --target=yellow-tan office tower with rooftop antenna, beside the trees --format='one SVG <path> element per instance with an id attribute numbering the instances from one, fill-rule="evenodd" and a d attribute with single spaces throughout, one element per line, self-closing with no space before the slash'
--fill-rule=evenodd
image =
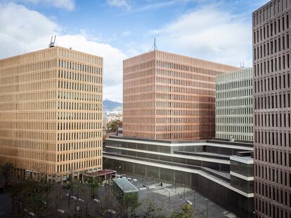
<path id="1" fill-rule="evenodd" d="M 61 47 L 0 60 L 0 163 L 22 176 L 102 170 L 103 58 Z"/>

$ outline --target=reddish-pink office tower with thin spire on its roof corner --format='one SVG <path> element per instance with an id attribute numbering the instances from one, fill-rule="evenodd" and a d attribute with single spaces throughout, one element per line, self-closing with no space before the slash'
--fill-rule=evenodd
<path id="1" fill-rule="evenodd" d="M 160 50 L 123 67 L 123 135 L 150 139 L 214 137 L 215 76 L 238 70 Z"/>

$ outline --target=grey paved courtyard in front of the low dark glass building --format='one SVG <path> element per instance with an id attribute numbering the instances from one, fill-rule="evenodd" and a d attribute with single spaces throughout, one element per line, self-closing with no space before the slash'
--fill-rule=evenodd
<path id="1" fill-rule="evenodd" d="M 150 200 L 153 205 L 162 209 L 160 213 L 164 216 L 169 216 L 174 211 L 181 211 L 183 205 L 192 203 L 196 217 L 205 218 L 207 215 L 209 218 L 237 217 L 235 214 L 228 212 L 223 207 L 212 202 L 212 200 L 202 196 L 198 191 L 193 191 L 183 186 L 175 187 L 174 184 L 162 183 L 162 186 L 160 186 L 160 182 L 132 175 L 122 176 L 137 179 L 136 182 L 132 183 L 140 189 L 138 193 L 142 205 L 138 208 L 139 210 L 146 206 L 144 203 L 145 200 Z M 146 188 L 143 187 L 143 183 L 146 184 Z"/>

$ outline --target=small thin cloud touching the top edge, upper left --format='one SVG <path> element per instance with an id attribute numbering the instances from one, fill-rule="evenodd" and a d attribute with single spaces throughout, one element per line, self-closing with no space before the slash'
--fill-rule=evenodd
<path id="1" fill-rule="evenodd" d="M 63 8 L 67 11 L 73 11 L 75 9 L 74 0 L 18 0 L 18 2 L 53 6 L 56 8 Z"/>

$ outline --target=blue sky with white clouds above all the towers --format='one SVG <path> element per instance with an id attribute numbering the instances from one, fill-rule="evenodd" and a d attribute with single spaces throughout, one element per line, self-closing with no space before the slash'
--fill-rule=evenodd
<path id="1" fill-rule="evenodd" d="M 0 0 L 0 58 L 56 45 L 104 58 L 103 99 L 122 102 L 122 60 L 158 50 L 252 67 L 252 11 L 268 0 Z"/>

